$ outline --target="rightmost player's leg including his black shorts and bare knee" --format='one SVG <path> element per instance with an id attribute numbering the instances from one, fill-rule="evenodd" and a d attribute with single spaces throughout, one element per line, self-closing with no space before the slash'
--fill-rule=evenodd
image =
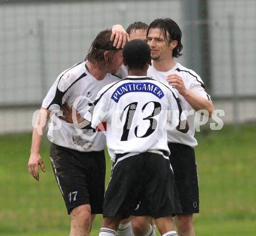
<path id="1" fill-rule="evenodd" d="M 194 149 L 183 144 L 168 144 L 170 163 L 175 176 L 183 214 L 175 216 L 177 230 L 182 236 L 194 236 L 193 213 L 199 212 L 197 165 Z"/>

